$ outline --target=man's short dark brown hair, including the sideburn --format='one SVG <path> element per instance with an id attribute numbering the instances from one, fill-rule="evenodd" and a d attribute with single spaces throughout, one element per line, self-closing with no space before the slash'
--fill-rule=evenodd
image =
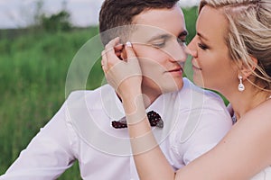
<path id="1" fill-rule="evenodd" d="M 150 9 L 172 8 L 179 0 L 105 0 L 99 12 L 99 32 L 104 45 L 117 36 L 126 36 L 124 28 L 134 17 Z M 114 30 L 115 28 L 115 30 Z M 107 31 L 110 30 L 110 31 Z M 105 32 L 107 31 L 107 32 Z"/>

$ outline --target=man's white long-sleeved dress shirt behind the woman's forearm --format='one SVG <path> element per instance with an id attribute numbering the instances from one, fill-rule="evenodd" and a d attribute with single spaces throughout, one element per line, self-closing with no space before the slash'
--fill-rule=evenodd
<path id="1" fill-rule="evenodd" d="M 213 148 L 232 125 L 217 94 L 183 81 L 181 91 L 160 95 L 146 110 L 164 120 L 153 131 L 175 169 Z M 125 113 L 110 85 L 73 92 L 0 179 L 56 179 L 75 159 L 82 179 L 138 179 L 127 129 L 114 129 L 116 120 Z"/>

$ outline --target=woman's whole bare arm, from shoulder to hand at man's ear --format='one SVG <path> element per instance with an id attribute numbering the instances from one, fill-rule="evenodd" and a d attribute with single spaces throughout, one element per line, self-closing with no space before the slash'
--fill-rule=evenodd
<path id="1" fill-rule="evenodd" d="M 157 145 L 146 118 L 140 88 L 142 78 L 138 76 L 141 72 L 135 71 L 139 67 L 135 53 L 131 47 L 126 47 L 128 60 L 120 61 L 114 56 L 114 50 L 108 51 L 114 49 L 117 43 L 118 40 L 111 41 L 106 48 L 107 53 L 103 53 L 103 62 L 107 63 L 104 71 L 107 80 L 117 85 L 114 87 L 122 98 L 140 179 L 240 180 L 250 178 L 270 164 L 271 141 L 268 137 L 271 135 L 271 121 L 268 121 L 270 114 L 265 113 L 268 111 L 265 104 L 248 112 L 215 148 L 179 169 L 175 175 Z M 132 60 L 129 61 L 129 58 Z M 130 73 L 119 78 L 117 66 L 121 67 L 118 71 L 126 69 L 125 74 L 133 72 L 134 75 Z M 266 108 L 266 111 L 260 108 Z M 259 114 L 261 120 L 257 121 Z"/>

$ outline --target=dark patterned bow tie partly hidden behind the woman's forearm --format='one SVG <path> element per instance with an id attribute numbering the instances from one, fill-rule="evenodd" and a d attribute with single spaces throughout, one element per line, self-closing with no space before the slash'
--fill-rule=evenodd
<path id="1" fill-rule="evenodd" d="M 161 119 L 161 116 L 154 112 L 147 112 L 148 119 L 150 121 L 151 126 L 157 126 L 159 128 L 164 127 L 164 121 Z M 126 128 L 127 122 L 126 121 L 112 121 L 112 126 L 116 129 Z"/>

